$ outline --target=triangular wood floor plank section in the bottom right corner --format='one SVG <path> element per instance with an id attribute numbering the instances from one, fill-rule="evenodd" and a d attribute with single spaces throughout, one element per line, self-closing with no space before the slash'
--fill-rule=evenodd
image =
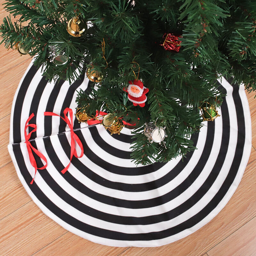
<path id="1" fill-rule="evenodd" d="M 255 256 L 256 217 L 207 252 L 209 256 Z"/>

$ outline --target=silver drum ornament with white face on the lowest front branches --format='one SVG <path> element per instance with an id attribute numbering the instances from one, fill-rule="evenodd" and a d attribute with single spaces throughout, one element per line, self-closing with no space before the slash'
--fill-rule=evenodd
<path id="1" fill-rule="evenodd" d="M 167 137 L 165 128 L 166 127 L 157 126 L 156 122 L 145 123 L 143 133 L 148 137 L 150 143 L 156 142 L 160 145 L 161 142 L 163 142 L 165 147 L 164 138 Z"/>

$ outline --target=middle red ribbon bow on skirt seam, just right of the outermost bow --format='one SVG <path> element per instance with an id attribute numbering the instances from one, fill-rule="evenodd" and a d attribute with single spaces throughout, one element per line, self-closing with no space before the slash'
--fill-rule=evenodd
<path id="1" fill-rule="evenodd" d="M 65 173 L 65 172 L 67 172 L 68 167 L 71 164 L 71 160 L 72 160 L 73 156 L 75 156 L 76 158 L 80 158 L 80 157 L 82 157 L 84 155 L 84 148 L 83 148 L 81 140 L 78 138 L 78 136 L 74 132 L 74 128 L 73 128 L 73 111 L 72 111 L 72 109 L 71 108 L 65 108 L 63 113 L 64 113 L 64 118 L 59 116 L 59 115 L 57 115 L 57 114 L 55 114 L 55 113 L 53 113 L 53 112 L 44 112 L 44 116 L 59 116 L 61 119 L 63 119 L 68 124 L 68 127 L 70 129 L 70 135 L 71 135 L 70 162 L 61 171 L 62 173 Z M 68 119 L 68 116 L 67 116 L 68 113 L 69 113 L 69 116 L 70 116 L 70 120 Z M 80 156 L 77 155 L 75 142 L 81 148 Z"/>

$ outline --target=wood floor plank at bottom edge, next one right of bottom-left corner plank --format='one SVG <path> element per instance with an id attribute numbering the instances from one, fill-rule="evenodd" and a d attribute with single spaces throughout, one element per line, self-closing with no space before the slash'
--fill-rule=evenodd
<path id="1" fill-rule="evenodd" d="M 72 246 L 67 246 L 67 245 Z M 101 244 L 92 243 L 84 238 L 76 236 L 70 232 L 64 234 L 51 244 L 44 247 L 42 250 L 35 253 L 33 256 L 49 256 L 49 255 L 108 255 L 114 256 L 124 252 L 125 247 L 111 247 Z M 75 252 L 75 254 L 74 254 Z"/>

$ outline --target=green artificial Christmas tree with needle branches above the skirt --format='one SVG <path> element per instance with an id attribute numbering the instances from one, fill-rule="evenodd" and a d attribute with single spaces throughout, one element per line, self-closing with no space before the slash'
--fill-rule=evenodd
<path id="1" fill-rule="evenodd" d="M 136 163 L 165 162 L 194 149 L 190 136 L 203 121 L 198 107 L 222 101 L 217 78 L 255 90 L 254 1 L 8 0 L 5 9 L 20 16 L 4 19 L 2 42 L 23 44 L 46 77 L 72 81 L 87 67 L 103 77 L 90 95 L 80 91 L 77 103 L 89 116 L 105 109 L 117 120 L 136 120 Z M 134 106 L 123 91 L 134 79 L 148 88 L 145 107 Z M 159 145 L 142 131 L 160 116 L 168 137 Z"/>

